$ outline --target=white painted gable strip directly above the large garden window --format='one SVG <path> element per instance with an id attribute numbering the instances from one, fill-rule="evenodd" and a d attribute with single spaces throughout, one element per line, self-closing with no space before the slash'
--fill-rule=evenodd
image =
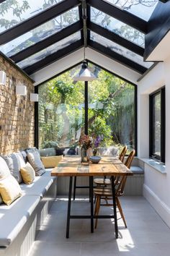
<path id="1" fill-rule="evenodd" d="M 39 85 L 40 83 L 45 82 L 51 77 L 54 77 L 73 65 L 83 61 L 83 58 L 84 48 L 81 48 L 78 51 L 75 51 L 62 59 L 55 61 L 53 64 L 50 64 L 47 67 L 35 72 L 31 75 L 32 80 L 35 81 L 35 85 Z M 108 69 L 110 72 L 113 72 L 133 83 L 136 83 L 141 76 L 138 72 L 125 67 L 117 61 L 109 59 L 107 56 L 99 54 L 97 51 L 94 51 L 91 48 L 86 48 L 86 59 L 89 59 L 89 61 L 92 61 L 95 64 L 98 64 L 99 66 Z"/>

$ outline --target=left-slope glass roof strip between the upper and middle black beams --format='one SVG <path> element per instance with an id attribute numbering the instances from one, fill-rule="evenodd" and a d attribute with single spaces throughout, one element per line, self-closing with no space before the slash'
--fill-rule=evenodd
<path id="1" fill-rule="evenodd" d="M 19 51 L 34 45 L 41 40 L 48 38 L 50 35 L 62 30 L 68 25 L 71 25 L 79 20 L 79 9 L 75 7 L 70 9 L 53 20 L 45 22 L 44 24 L 35 27 L 35 29 L 30 30 L 30 32 L 19 36 L 18 38 L 10 41 L 9 43 L 0 46 L 0 51 L 2 51 L 6 56 L 12 56 L 17 54 Z"/>

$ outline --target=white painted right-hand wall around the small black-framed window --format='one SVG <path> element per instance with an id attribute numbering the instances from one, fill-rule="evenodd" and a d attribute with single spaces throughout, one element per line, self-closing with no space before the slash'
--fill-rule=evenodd
<path id="1" fill-rule="evenodd" d="M 170 58 L 159 63 L 138 82 L 138 157 L 148 158 L 149 97 L 166 86 L 166 174 L 145 163 L 143 195 L 153 205 L 161 218 L 170 226 Z"/>

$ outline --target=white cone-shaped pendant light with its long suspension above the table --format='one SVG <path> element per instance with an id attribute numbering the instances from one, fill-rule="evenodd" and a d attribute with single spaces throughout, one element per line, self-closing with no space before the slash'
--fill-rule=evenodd
<path id="1" fill-rule="evenodd" d="M 74 81 L 93 81 L 96 80 L 97 77 L 91 73 L 88 69 L 86 57 L 85 57 L 85 48 L 87 46 L 87 27 L 86 27 L 86 0 L 81 0 L 82 4 L 82 14 L 83 14 L 83 22 L 84 22 L 84 61 L 81 65 L 81 69 L 75 77 L 73 77 Z"/>

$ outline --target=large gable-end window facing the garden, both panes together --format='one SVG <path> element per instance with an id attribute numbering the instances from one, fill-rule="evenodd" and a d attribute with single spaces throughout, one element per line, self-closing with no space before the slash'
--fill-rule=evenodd
<path id="1" fill-rule="evenodd" d="M 84 132 L 88 111 L 89 135 L 100 135 L 101 146 L 135 148 L 135 85 L 89 63 L 97 80 L 88 82 L 88 109 L 84 82 L 73 81 L 73 68 L 39 86 L 39 147 L 71 147 Z"/>

